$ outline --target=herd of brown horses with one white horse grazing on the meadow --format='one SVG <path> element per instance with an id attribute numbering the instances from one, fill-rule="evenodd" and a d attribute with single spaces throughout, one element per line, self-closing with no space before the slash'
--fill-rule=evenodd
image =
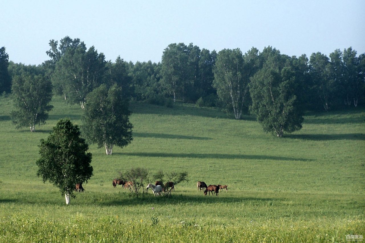
<path id="1" fill-rule="evenodd" d="M 133 186 L 133 182 L 132 181 L 123 181 L 123 180 L 120 180 L 120 179 L 114 179 L 113 180 L 113 186 L 114 188 L 116 188 L 116 185 L 122 185 L 125 189 L 127 188 L 131 188 Z M 204 195 L 207 196 L 207 194 L 209 193 L 212 193 L 212 195 L 214 195 L 214 193 L 216 194 L 216 196 L 218 196 L 218 193 L 220 191 L 222 191 L 223 189 L 226 189 L 226 192 L 228 190 L 228 186 L 227 185 L 209 185 L 207 186 L 207 184 L 205 184 L 204 181 L 198 181 L 197 184 L 196 184 L 196 187 L 198 189 L 198 192 L 200 190 L 203 189 L 204 190 Z M 149 183 L 147 185 L 147 188 L 146 190 L 148 190 L 149 188 L 152 189 L 153 191 L 153 194 L 155 196 L 162 196 L 162 192 L 167 192 L 168 193 L 171 193 L 172 190 L 175 190 L 175 184 L 174 182 L 172 181 L 169 181 L 169 182 L 166 182 L 165 185 L 162 184 L 162 181 L 155 181 L 155 184 L 151 184 Z M 75 190 L 76 192 L 84 192 L 84 188 L 82 187 L 82 183 L 77 183 L 76 184 L 76 187 L 75 187 Z"/>

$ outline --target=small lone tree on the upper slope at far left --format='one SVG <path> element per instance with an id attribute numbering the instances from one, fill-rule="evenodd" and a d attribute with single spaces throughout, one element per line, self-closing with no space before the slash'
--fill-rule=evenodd
<path id="1" fill-rule="evenodd" d="M 42 75 L 23 73 L 14 76 L 11 90 L 15 106 L 11 117 L 17 128 L 30 127 L 33 132 L 36 124 L 46 123 L 48 112 L 53 108 L 49 104 L 52 84 L 48 79 Z"/>

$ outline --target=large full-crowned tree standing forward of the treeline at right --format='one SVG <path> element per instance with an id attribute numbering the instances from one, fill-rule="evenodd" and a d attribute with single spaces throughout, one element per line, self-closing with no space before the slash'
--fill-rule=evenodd
<path id="1" fill-rule="evenodd" d="M 300 130 L 303 112 L 298 104 L 298 73 L 285 55 L 269 47 L 264 65 L 252 78 L 250 107 L 265 132 L 282 137 Z M 284 65 L 283 60 L 287 60 Z"/>

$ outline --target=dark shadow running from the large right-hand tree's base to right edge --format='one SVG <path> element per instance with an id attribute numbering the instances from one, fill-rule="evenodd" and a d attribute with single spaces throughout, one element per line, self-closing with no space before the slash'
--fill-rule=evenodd
<path id="1" fill-rule="evenodd" d="M 327 141 L 327 140 L 365 140 L 365 134 L 350 133 L 350 134 L 288 134 L 287 138 Z"/>

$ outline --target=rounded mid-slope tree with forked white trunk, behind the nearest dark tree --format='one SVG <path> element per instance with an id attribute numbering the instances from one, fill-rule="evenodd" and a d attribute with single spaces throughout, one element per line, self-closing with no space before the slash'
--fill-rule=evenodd
<path id="1" fill-rule="evenodd" d="M 91 143 L 105 147 L 107 155 L 113 147 L 125 147 L 132 141 L 131 112 L 122 88 L 105 84 L 87 95 L 87 106 L 82 115 L 82 132 Z"/>

